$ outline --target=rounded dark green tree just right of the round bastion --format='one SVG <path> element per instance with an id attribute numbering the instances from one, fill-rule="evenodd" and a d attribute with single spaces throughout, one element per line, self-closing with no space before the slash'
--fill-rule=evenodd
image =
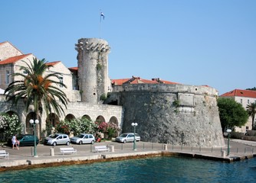
<path id="1" fill-rule="evenodd" d="M 245 108 L 232 98 L 218 98 L 218 112 L 223 132 L 226 128 L 241 127 L 248 120 Z"/>

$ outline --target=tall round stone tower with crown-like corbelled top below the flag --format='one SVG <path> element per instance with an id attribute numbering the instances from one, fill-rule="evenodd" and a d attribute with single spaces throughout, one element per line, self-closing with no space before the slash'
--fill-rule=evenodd
<path id="1" fill-rule="evenodd" d="M 81 38 L 75 48 L 78 52 L 78 86 L 81 101 L 97 104 L 110 92 L 108 77 L 108 53 L 110 47 L 106 40 Z"/>

